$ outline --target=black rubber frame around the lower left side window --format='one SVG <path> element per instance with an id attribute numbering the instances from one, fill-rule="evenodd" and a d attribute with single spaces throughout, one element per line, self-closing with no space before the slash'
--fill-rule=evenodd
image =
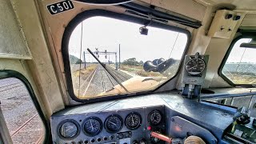
<path id="1" fill-rule="evenodd" d="M 41 110 L 38 99 L 34 94 L 34 90 L 32 89 L 30 82 L 26 79 L 24 75 L 22 75 L 21 73 L 15 70 L 0 70 L 0 79 L 3 79 L 3 78 L 17 78 L 24 84 L 24 86 L 26 86 L 26 90 L 30 94 L 30 98 L 34 104 L 34 107 L 38 111 L 38 115 L 41 118 L 42 125 L 44 126 L 44 129 L 45 129 L 45 134 L 44 134 L 45 137 L 44 137 L 43 143 L 50 143 L 50 123 L 46 120 L 46 117 Z"/>

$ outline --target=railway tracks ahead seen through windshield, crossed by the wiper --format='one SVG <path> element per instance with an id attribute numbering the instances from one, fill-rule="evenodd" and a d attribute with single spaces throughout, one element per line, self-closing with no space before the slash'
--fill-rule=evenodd
<path id="1" fill-rule="evenodd" d="M 118 78 L 119 82 L 125 82 L 130 79 L 131 76 L 125 74 L 121 71 L 114 70 L 112 67 L 108 66 L 108 69 L 116 78 Z M 84 86 L 86 85 L 86 86 Z M 96 67 L 96 69 L 86 78 L 86 81 L 83 83 L 83 87 L 85 87 L 82 97 L 90 98 L 97 94 L 100 94 L 106 90 L 110 90 L 113 86 L 118 85 L 118 82 L 111 77 L 110 74 L 100 65 Z"/>

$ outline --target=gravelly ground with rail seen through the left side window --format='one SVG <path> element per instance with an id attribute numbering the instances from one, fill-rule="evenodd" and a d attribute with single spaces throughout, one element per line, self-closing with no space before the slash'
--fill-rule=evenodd
<path id="1" fill-rule="evenodd" d="M 44 126 L 21 81 L 17 78 L 1 79 L 0 102 L 14 144 L 43 142 Z"/>

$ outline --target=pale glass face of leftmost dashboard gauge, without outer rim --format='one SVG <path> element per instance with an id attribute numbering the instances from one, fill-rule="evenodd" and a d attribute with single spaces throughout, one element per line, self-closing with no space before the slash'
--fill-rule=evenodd
<path id="1" fill-rule="evenodd" d="M 74 122 L 65 122 L 60 126 L 59 133 L 64 138 L 74 138 L 78 134 L 78 126 Z"/>

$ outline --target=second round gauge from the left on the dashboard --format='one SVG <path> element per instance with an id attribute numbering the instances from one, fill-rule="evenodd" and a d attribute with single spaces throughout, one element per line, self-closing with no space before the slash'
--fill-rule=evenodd
<path id="1" fill-rule="evenodd" d="M 83 129 L 86 135 L 95 136 L 102 131 L 102 121 L 97 117 L 86 118 Z"/>

